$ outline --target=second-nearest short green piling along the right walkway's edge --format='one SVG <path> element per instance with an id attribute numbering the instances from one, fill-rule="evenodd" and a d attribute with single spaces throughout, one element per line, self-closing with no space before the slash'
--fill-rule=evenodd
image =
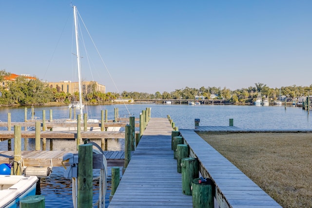
<path id="1" fill-rule="evenodd" d="M 182 193 L 192 195 L 192 181 L 199 176 L 198 160 L 194 157 L 186 157 L 181 160 Z"/>

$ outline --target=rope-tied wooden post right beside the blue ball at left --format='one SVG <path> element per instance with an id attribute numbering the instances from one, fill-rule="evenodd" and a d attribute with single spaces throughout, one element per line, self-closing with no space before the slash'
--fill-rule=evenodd
<path id="1" fill-rule="evenodd" d="M 21 175 L 21 126 L 14 125 L 14 175 Z"/>

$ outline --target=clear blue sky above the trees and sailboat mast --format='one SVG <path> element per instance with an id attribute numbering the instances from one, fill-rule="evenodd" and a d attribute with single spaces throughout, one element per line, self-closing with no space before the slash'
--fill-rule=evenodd
<path id="1" fill-rule="evenodd" d="M 77 81 L 71 3 L 107 92 L 312 84 L 311 0 L 0 0 L 0 70 Z"/>

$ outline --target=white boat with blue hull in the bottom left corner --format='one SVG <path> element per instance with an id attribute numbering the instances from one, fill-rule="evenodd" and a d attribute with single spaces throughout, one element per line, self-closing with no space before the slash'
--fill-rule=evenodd
<path id="1" fill-rule="evenodd" d="M 36 194 L 37 181 L 37 176 L 0 175 L 0 207 L 20 207 L 22 198 Z"/>

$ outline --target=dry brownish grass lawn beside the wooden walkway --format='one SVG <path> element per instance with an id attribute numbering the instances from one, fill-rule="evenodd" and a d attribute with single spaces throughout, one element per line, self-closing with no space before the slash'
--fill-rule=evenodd
<path id="1" fill-rule="evenodd" d="M 312 208 L 312 133 L 198 133 L 283 208 Z"/>

